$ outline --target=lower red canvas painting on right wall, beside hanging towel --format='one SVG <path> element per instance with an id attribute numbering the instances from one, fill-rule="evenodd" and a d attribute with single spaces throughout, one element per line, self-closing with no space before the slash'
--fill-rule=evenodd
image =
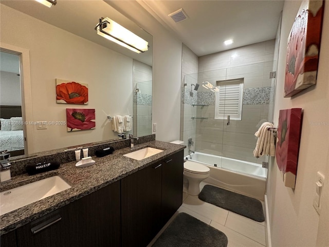
<path id="1" fill-rule="evenodd" d="M 280 110 L 276 159 L 284 185 L 290 188 L 295 188 L 301 125 L 301 108 Z"/>

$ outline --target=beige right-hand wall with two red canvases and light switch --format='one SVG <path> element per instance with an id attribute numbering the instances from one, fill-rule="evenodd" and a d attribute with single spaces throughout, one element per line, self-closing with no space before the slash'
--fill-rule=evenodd
<path id="1" fill-rule="evenodd" d="M 269 169 L 267 198 L 272 246 L 328 246 L 329 239 L 329 2 L 325 3 L 317 84 L 291 98 L 283 98 L 287 39 L 300 1 L 286 1 L 278 64 L 274 121 L 281 109 L 304 110 L 296 188 L 285 187 L 276 162 Z M 321 210 L 313 208 L 316 173 L 325 175 Z"/>

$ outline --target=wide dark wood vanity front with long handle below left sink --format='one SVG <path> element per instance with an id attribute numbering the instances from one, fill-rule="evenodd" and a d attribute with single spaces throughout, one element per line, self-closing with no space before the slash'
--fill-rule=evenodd
<path id="1" fill-rule="evenodd" d="M 120 226 L 118 181 L 17 228 L 17 247 L 120 246 Z"/>

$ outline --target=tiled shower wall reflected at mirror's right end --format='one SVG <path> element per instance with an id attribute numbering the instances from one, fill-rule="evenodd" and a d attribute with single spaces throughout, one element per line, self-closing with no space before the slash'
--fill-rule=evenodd
<path id="1" fill-rule="evenodd" d="M 133 76 L 134 135 L 150 135 L 152 134 L 152 67 L 134 60 Z M 139 92 L 136 92 L 136 89 Z"/>

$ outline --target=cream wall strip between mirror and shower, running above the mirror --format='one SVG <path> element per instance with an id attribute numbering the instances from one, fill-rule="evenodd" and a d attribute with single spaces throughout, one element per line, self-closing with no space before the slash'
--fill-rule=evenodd
<path id="1" fill-rule="evenodd" d="M 182 43 L 136 1 L 111 5 L 153 36 L 153 123 L 157 140 L 179 139 Z"/>

